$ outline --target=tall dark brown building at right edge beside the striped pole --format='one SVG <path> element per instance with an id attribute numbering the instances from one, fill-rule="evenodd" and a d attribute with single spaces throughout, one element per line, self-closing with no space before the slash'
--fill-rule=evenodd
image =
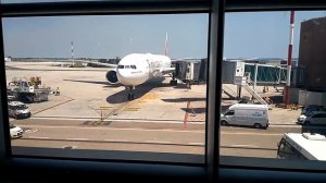
<path id="1" fill-rule="evenodd" d="M 299 62 L 304 70 L 304 89 L 326 91 L 326 17 L 301 23 Z"/>

